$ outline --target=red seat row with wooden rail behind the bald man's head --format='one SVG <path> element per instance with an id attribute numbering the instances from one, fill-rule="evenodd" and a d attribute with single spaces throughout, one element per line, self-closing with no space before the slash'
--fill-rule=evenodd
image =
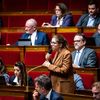
<path id="1" fill-rule="evenodd" d="M 72 11 L 73 20 L 76 24 L 82 11 Z M 3 21 L 3 27 L 23 27 L 25 22 L 29 18 L 34 18 L 37 20 L 38 26 L 40 27 L 43 22 L 50 22 L 52 13 L 24 13 L 24 12 L 6 12 L 0 13 Z"/>

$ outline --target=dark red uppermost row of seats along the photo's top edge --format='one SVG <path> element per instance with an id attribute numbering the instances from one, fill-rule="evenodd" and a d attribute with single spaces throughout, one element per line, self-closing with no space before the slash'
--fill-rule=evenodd
<path id="1" fill-rule="evenodd" d="M 53 11 L 56 3 L 65 3 L 70 10 L 86 10 L 88 1 L 87 0 L 0 0 L 1 11 Z M 16 4 L 16 5 L 14 5 Z M 82 4 L 82 5 L 80 5 Z M 98 3 L 99 4 L 99 3 Z"/>

